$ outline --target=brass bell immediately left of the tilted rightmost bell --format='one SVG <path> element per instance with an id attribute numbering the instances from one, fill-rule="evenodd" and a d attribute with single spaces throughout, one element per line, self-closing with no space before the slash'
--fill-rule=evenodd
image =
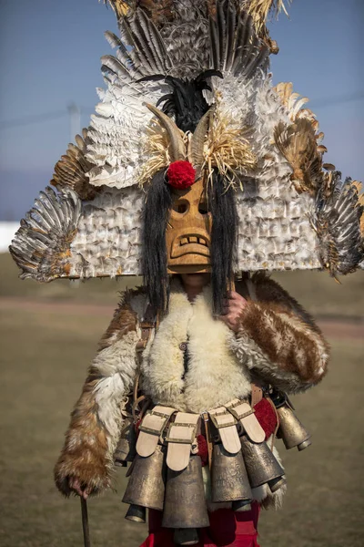
<path id="1" fill-rule="evenodd" d="M 247 435 L 243 435 L 240 440 L 251 488 L 258 488 L 258 486 L 267 482 L 268 485 L 271 483 L 274 488 L 275 483 L 272 481 L 282 477 L 284 470 L 279 465 L 278 459 L 271 449 L 269 449 L 268 444 L 265 441 L 252 442 Z"/>

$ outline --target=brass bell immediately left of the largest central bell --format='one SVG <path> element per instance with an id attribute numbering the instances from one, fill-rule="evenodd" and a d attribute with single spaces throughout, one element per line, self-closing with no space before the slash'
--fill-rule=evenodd
<path id="1" fill-rule="evenodd" d="M 123 498 L 124 503 L 163 510 L 166 483 L 164 459 L 164 449 L 160 445 L 147 458 L 136 454 Z"/>

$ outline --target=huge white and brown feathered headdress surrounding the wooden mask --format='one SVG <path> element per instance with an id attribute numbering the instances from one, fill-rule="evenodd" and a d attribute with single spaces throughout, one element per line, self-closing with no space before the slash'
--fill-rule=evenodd
<path id="1" fill-rule="evenodd" d="M 268 74 L 266 21 L 283 0 L 108 4 L 119 32 L 106 32 L 106 87 L 15 235 L 23 277 L 141 274 L 147 192 L 186 160 L 233 192 L 236 272 L 359 267 L 359 183 L 324 162 L 308 99 Z"/>

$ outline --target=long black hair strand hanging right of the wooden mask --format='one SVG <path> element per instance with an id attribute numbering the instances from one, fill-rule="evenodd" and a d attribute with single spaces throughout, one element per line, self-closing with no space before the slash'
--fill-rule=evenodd
<path id="1" fill-rule="evenodd" d="M 234 275 L 234 259 L 238 237 L 238 212 L 233 188 L 215 171 L 207 191 L 208 209 L 212 214 L 211 285 L 214 313 L 221 314 Z"/>

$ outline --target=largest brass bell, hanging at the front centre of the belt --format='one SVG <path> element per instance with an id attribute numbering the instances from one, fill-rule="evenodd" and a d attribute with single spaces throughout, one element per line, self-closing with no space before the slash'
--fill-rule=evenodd
<path id="1" fill-rule="evenodd" d="M 167 470 L 162 526 L 206 528 L 208 525 L 201 459 L 191 455 L 186 469 Z"/>

